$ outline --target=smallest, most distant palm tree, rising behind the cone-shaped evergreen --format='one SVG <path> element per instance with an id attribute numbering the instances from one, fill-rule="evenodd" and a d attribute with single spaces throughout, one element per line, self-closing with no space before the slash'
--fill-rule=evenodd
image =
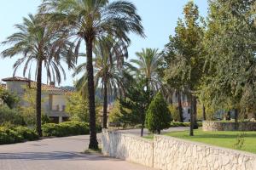
<path id="1" fill-rule="evenodd" d="M 163 87 L 158 74 L 162 59 L 158 49 L 143 48 L 143 51 L 137 52 L 136 55 L 138 59 L 131 59 L 131 63 L 137 65 L 137 67 L 133 67 L 133 70 L 137 71 L 138 75 L 147 78 L 147 88 L 154 92 L 158 91 Z"/>

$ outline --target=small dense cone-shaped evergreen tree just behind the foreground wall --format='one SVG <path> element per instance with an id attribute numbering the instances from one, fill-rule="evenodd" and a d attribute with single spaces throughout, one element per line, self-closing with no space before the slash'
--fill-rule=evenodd
<path id="1" fill-rule="evenodd" d="M 170 122 L 172 122 L 172 116 L 166 100 L 162 94 L 158 93 L 148 107 L 146 127 L 150 132 L 160 134 L 162 129 L 170 127 Z"/>

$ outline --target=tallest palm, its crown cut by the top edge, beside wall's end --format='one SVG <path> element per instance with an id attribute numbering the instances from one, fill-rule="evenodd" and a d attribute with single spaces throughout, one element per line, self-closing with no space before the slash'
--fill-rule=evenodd
<path id="1" fill-rule="evenodd" d="M 90 149 L 98 149 L 96 139 L 95 88 L 93 73 L 93 47 L 109 35 L 129 43 L 129 32 L 143 36 L 141 18 L 137 8 L 125 1 L 108 3 L 108 0 L 44 0 L 43 14 L 52 16 L 54 22 L 67 24 L 64 33 L 74 39 L 75 54 L 81 42 L 86 46 L 86 71 L 88 74 L 88 99 L 90 111 Z"/>

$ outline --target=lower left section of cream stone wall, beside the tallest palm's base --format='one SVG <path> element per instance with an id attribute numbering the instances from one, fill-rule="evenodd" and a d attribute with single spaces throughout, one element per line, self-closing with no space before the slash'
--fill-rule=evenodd
<path id="1" fill-rule="evenodd" d="M 153 140 L 102 130 L 102 153 L 153 167 Z"/>

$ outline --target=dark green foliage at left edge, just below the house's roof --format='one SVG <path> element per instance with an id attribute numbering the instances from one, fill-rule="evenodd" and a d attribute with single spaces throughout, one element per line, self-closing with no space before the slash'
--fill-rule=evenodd
<path id="1" fill-rule="evenodd" d="M 9 106 L 10 109 L 13 109 L 15 105 L 20 101 L 19 97 L 16 94 L 9 92 L 7 89 L 0 86 L 0 102 Z"/>

